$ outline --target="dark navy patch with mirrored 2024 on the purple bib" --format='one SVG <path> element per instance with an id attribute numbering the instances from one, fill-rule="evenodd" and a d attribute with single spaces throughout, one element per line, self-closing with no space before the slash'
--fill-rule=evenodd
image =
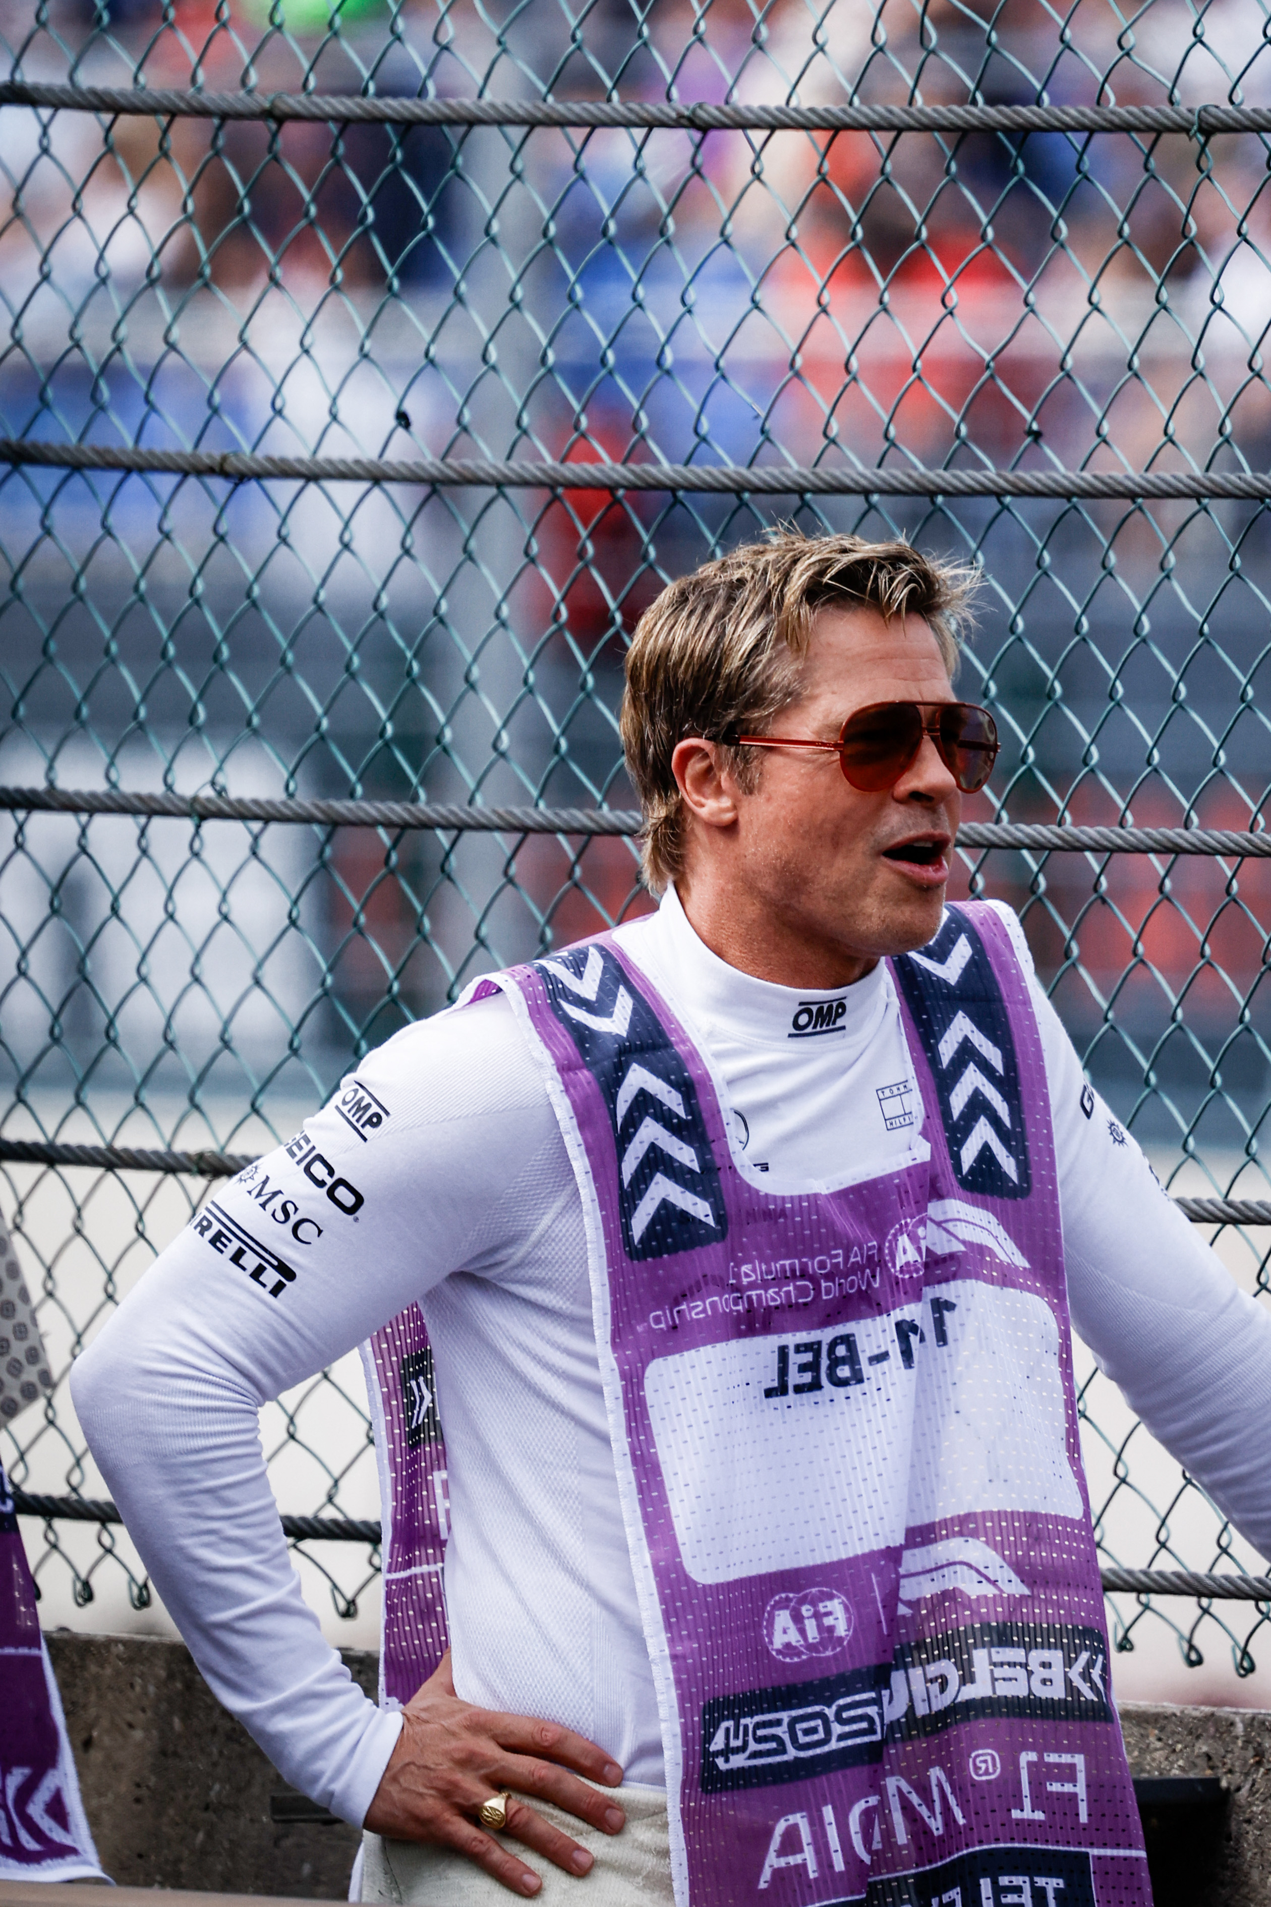
<path id="1" fill-rule="evenodd" d="M 882 1760 L 888 1669 L 716 1695 L 701 1711 L 701 1791 L 804 1781 Z"/>

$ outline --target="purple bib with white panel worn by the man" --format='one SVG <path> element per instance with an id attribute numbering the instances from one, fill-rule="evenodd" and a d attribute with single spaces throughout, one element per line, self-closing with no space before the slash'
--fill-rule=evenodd
<path id="1" fill-rule="evenodd" d="M 678 1907 L 1149 1907 L 1080 1466 L 1046 1074 L 991 908 L 892 963 L 922 1137 L 774 1194 L 612 936 L 484 980 L 545 1058 Z M 444 1648 L 417 1308 L 373 1344 L 383 1686 Z"/>

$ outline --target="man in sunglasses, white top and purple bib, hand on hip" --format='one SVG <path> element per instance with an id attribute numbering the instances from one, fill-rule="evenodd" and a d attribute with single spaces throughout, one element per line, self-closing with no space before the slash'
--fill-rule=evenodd
<path id="1" fill-rule="evenodd" d="M 76 1365 L 204 1674 L 366 1827 L 364 1899 L 1147 1907 L 1069 1301 L 1263 1552 L 1271 1320 L 1014 915 L 945 906 L 997 753 L 970 593 L 797 532 L 665 589 L 623 704 L 657 913 L 372 1053 Z M 368 1337 L 379 1707 L 255 1426 Z"/>

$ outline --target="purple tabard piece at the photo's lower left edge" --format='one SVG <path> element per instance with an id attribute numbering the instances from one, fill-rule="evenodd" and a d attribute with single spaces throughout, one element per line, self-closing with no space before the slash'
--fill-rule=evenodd
<path id="1" fill-rule="evenodd" d="M 103 1880 L 0 1468 L 0 1880 Z"/>

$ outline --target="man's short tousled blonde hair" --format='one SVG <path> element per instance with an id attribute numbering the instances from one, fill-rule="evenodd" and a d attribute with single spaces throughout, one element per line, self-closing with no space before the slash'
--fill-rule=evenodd
<path id="1" fill-rule="evenodd" d="M 684 868 L 684 801 L 671 769 L 676 744 L 697 734 L 724 744 L 739 732 L 762 734 L 798 694 L 819 608 L 873 606 L 888 622 L 920 616 L 953 679 L 978 585 L 978 570 L 924 557 L 905 542 L 791 528 L 667 584 L 636 624 L 621 707 L 650 891 L 659 894 Z M 757 753 L 726 744 L 743 788 L 760 774 Z"/>

